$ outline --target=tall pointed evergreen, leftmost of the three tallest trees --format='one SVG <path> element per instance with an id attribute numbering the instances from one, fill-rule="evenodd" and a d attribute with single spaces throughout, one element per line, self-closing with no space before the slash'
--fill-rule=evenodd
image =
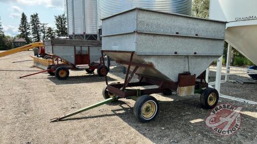
<path id="1" fill-rule="evenodd" d="M 29 30 L 30 30 L 30 25 L 28 23 L 27 16 L 23 12 L 22 13 L 22 18 L 21 18 L 21 24 L 19 26 L 19 32 L 21 32 L 20 37 L 24 38 L 26 40 L 27 44 L 31 43 L 31 39 L 29 37 L 29 35 L 30 35 Z"/>

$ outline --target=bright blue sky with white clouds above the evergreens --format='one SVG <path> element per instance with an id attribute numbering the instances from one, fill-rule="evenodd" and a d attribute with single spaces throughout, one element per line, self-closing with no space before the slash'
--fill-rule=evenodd
<path id="1" fill-rule="evenodd" d="M 10 36 L 19 34 L 22 12 L 27 15 L 28 22 L 31 14 L 38 13 L 41 23 L 55 27 L 54 15 L 63 14 L 64 5 L 65 0 L 0 0 L 0 22 L 5 35 Z"/>

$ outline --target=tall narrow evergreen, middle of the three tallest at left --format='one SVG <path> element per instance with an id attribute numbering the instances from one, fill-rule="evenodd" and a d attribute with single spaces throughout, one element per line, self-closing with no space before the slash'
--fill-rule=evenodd
<path id="1" fill-rule="evenodd" d="M 30 16 L 31 35 L 33 42 L 40 42 L 41 26 L 39 21 L 39 14 L 35 13 Z"/>

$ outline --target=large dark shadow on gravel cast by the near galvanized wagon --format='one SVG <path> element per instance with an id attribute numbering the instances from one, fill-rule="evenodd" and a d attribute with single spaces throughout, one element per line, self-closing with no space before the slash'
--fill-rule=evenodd
<path id="1" fill-rule="evenodd" d="M 170 98 L 174 100 L 159 101 L 158 115 L 148 123 L 138 122 L 133 113 L 134 104 L 123 101 L 122 99 L 109 104 L 109 106 L 120 107 L 118 109 L 112 109 L 111 114 L 74 117 L 61 121 L 118 116 L 127 125 L 153 143 L 191 143 L 191 141 L 194 141 L 194 143 L 242 143 L 242 141 L 254 140 L 254 134 L 252 136 L 248 135 L 249 133 L 255 132 L 254 127 L 241 128 L 244 130 L 243 133 L 240 130 L 232 136 L 214 134 L 205 125 L 204 121 L 211 110 L 201 108 L 198 95 L 189 97 L 172 95 Z M 201 119 L 201 121 L 195 123 L 190 122 L 196 119 Z M 252 121 L 255 118 L 244 116 L 243 120 Z"/>

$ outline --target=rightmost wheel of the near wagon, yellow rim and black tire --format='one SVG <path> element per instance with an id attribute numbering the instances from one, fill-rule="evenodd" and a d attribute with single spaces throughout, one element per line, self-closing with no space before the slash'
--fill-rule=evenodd
<path id="1" fill-rule="evenodd" d="M 200 96 L 201 106 L 205 109 L 212 109 L 218 103 L 218 92 L 213 88 L 206 88 Z"/>

